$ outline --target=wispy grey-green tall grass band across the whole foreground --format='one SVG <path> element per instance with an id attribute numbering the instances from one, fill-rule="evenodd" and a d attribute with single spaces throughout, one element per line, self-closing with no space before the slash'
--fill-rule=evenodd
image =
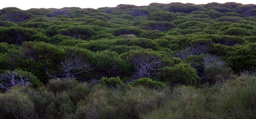
<path id="1" fill-rule="evenodd" d="M 52 80 L 45 90 L 13 87 L 0 94 L 1 118 L 256 119 L 256 76 L 242 74 L 196 89 L 103 85 Z"/>

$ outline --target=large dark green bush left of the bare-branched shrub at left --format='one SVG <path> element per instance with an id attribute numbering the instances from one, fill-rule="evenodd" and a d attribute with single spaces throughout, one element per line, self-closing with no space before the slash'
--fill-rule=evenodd
<path id="1" fill-rule="evenodd" d="M 14 60 L 16 66 L 31 72 L 44 83 L 48 81 L 48 76 L 42 71 L 57 71 L 60 60 L 64 59 L 63 49 L 44 42 L 25 42 L 22 46 L 22 53 L 23 59 Z"/>

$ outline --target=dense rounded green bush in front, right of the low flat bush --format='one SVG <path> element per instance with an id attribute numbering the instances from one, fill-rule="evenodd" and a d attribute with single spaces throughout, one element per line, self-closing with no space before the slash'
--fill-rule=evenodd
<path id="1" fill-rule="evenodd" d="M 161 81 L 200 87 L 200 78 L 197 76 L 195 69 L 191 68 L 189 64 L 180 63 L 173 67 L 165 67 L 161 69 L 161 72 L 158 75 Z"/>

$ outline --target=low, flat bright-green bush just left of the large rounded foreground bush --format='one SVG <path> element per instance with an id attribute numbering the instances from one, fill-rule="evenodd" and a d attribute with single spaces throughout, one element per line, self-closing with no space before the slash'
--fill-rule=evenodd
<path id="1" fill-rule="evenodd" d="M 131 86 L 142 85 L 142 86 L 149 87 L 152 89 L 159 89 L 159 88 L 163 88 L 165 86 L 162 82 L 154 81 L 150 78 L 140 78 L 133 82 L 130 82 L 128 85 L 131 85 Z"/>

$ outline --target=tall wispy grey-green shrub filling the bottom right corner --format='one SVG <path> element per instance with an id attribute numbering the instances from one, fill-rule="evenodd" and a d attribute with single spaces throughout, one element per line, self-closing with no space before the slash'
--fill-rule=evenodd
<path id="1" fill-rule="evenodd" d="M 224 85 L 219 93 L 213 95 L 212 110 L 216 110 L 219 118 L 256 118 L 255 89 L 256 77 L 242 75 L 234 82 Z M 239 107 L 239 108 L 237 108 Z M 232 110 L 232 111 L 231 111 Z"/>

